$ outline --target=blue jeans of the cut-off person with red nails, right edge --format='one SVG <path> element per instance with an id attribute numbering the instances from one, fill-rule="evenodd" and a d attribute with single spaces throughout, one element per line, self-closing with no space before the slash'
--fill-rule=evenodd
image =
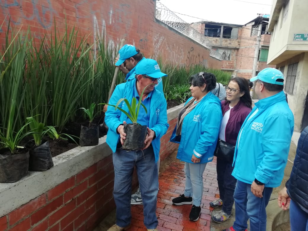
<path id="1" fill-rule="evenodd" d="M 294 201 L 290 201 L 291 231 L 308 231 L 308 213 L 303 211 Z"/>

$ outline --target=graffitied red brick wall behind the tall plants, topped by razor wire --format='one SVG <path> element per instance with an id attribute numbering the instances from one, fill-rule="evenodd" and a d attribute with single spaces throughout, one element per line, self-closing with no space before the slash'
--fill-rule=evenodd
<path id="1" fill-rule="evenodd" d="M 134 44 L 146 57 L 162 57 L 169 63 L 186 66 L 204 63 L 208 67 L 221 68 L 221 62 L 209 56 L 209 49 L 159 23 L 154 18 L 153 0 L 64 2 L 41 0 L 34 4 L 31 1 L 4 1 L 0 10 L 0 22 L 5 20 L 2 32 L 6 31 L 11 17 L 11 26 L 15 31 L 19 27 L 27 29 L 29 26 L 35 37 L 40 38 L 46 33 L 54 34 L 55 20 L 56 31 L 64 32 L 67 22 L 70 26 L 79 27 L 81 36 L 88 35 L 89 42 L 105 39 L 113 48 L 124 38 L 125 43 Z M 3 43 L 4 34 L 0 34 L 0 43 Z M 97 47 L 93 49 L 96 51 Z"/>

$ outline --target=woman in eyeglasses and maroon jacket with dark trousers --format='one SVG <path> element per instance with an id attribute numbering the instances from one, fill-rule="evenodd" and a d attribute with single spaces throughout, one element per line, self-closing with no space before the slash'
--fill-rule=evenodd
<path id="1" fill-rule="evenodd" d="M 238 133 L 241 126 L 251 111 L 251 97 L 249 94 L 249 85 L 246 79 L 235 77 L 229 81 L 225 87 L 227 97 L 221 102 L 223 114 L 219 140 L 217 148 L 222 140 L 224 145 L 233 146 L 236 144 Z M 234 148 L 234 147 L 233 147 Z M 233 153 L 232 156 L 222 156 L 218 148 L 215 155 L 217 156 L 217 180 L 220 198 L 210 202 L 213 208 L 222 205 L 222 209 L 212 212 L 212 220 L 217 223 L 227 221 L 231 217 L 231 210 L 234 203 L 233 193 L 236 179 L 231 175 L 233 171 Z"/>

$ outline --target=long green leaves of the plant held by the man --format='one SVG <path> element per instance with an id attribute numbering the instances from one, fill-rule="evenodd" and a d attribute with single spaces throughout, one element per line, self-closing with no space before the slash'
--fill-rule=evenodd
<path id="1" fill-rule="evenodd" d="M 149 84 L 149 85 L 151 85 L 151 84 Z M 143 95 L 144 90 L 145 90 L 149 85 L 147 85 L 146 87 L 144 87 L 144 89 L 143 89 L 141 95 Z M 122 108 L 119 107 L 119 105 L 120 105 L 120 103 L 121 103 L 122 101 L 124 101 L 124 103 L 125 103 L 126 106 L 128 107 L 129 113 L 128 113 L 127 111 L 124 111 Z M 128 100 L 125 99 L 125 98 L 119 99 L 119 101 L 116 103 L 116 105 L 112 105 L 112 104 L 108 104 L 108 103 L 99 103 L 99 104 L 106 104 L 106 105 L 115 107 L 115 110 L 116 110 L 116 109 L 119 109 L 119 110 L 122 111 L 125 115 L 127 115 L 127 117 L 132 121 L 133 124 L 138 124 L 138 123 L 137 123 L 137 119 L 138 119 L 138 114 L 139 114 L 140 106 L 142 106 L 142 107 L 144 108 L 145 113 L 148 113 L 147 108 L 144 106 L 143 103 L 141 103 L 141 101 L 142 101 L 142 97 L 139 98 L 138 103 L 137 103 L 136 97 L 133 97 L 133 98 L 132 98 L 132 104 L 130 104 L 130 103 L 128 102 Z"/>

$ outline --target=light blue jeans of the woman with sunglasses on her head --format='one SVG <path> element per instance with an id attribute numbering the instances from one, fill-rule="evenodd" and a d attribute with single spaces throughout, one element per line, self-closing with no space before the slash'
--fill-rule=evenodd
<path id="1" fill-rule="evenodd" d="M 204 164 L 191 164 L 185 162 L 184 172 L 185 179 L 185 197 L 193 197 L 193 205 L 200 206 L 203 194 L 203 177 L 205 166 Z"/>

